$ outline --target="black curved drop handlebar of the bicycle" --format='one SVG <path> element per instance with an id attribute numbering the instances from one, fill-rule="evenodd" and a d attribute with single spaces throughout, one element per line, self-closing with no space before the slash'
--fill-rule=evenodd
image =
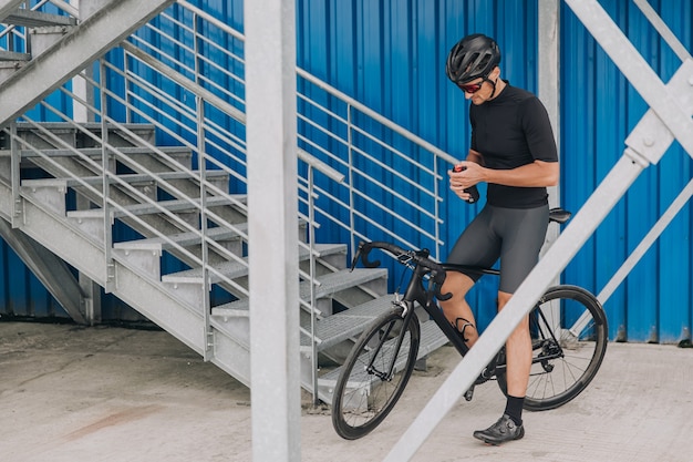
<path id="1" fill-rule="evenodd" d="M 433 261 L 428 258 L 428 249 L 422 250 L 405 250 L 402 247 L 386 243 L 382 240 L 373 240 L 370 243 L 361 242 L 359 243 L 359 248 L 354 254 L 353 260 L 351 261 L 351 269 L 353 270 L 359 261 L 359 257 L 361 257 L 361 261 L 363 266 L 366 268 L 375 268 L 380 266 L 380 260 L 369 260 L 369 254 L 372 249 L 380 248 L 383 250 L 387 250 L 390 254 L 396 257 L 397 263 L 402 265 L 406 265 L 408 263 L 414 263 L 416 266 L 423 266 L 426 268 L 426 271 L 431 275 L 431 279 L 434 285 L 433 295 L 438 300 L 448 300 L 453 295 L 452 294 L 442 294 L 441 287 L 443 287 L 443 283 L 445 281 L 446 271 L 441 264 Z"/>

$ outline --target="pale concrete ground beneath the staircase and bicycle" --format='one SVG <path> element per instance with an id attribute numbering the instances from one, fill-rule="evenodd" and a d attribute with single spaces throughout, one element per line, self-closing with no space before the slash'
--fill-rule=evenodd
<path id="1" fill-rule="evenodd" d="M 449 347 L 437 351 L 385 422 L 356 441 L 339 438 L 329 411 L 306 397 L 302 461 L 382 460 L 458 361 Z M 689 462 L 692 384 L 693 349 L 610 343 L 580 397 L 525 413 L 525 439 L 472 438 L 503 411 L 487 383 L 413 460 Z M 250 417 L 249 390 L 166 332 L 0 322 L 0 461 L 252 461 Z"/>

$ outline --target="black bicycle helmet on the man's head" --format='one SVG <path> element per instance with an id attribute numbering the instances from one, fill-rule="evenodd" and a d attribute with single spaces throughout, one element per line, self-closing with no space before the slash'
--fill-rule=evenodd
<path id="1" fill-rule="evenodd" d="M 463 38 L 447 54 L 445 73 L 456 84 L 487 78 L 500 63 L 500 50 L 490 37 L 475 33 Z"/>

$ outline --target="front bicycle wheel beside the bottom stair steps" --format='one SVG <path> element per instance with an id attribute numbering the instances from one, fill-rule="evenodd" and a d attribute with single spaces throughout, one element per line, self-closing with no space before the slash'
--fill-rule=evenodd
<path id="1" fill-rule="evenodd" d="M 364 437 L 387 417 L 414 370 L 420 335 L 416 315 L 404 326 L 402 308 L 380 316 L 361 335 L 342 366 L 332 398 L 332 425 L 340 437 Z"/>

